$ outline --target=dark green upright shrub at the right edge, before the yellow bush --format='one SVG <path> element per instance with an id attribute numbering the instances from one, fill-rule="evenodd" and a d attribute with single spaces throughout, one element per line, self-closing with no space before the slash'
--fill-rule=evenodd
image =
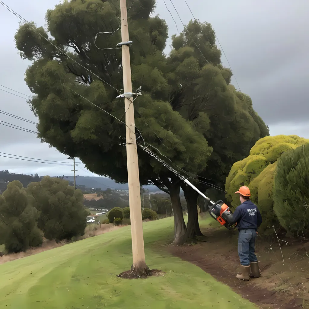
<path id="1" fill-rule="evenodd" d="M 289 150 L 277 162 L 274 211 L 282 227 L 309 235 L 309 143 Z"/>

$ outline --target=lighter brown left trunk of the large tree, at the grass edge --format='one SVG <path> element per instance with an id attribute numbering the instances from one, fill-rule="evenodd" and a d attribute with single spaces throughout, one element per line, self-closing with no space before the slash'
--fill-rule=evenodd
<path id="1" fill-rule="evenodd" d="M 184 244 L 186 239 L 186 224 L 184 223 L 184 215 L 182 213 L 180 203 L 180 185 L 172 185 L 169 188 L 171 196 L 172 210 L 174 213 L 174 241 L 172 246 L 179 246 Z"/>

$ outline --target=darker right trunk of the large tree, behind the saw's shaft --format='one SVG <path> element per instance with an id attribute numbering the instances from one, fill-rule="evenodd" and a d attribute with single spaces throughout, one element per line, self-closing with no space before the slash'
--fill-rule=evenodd
<path id="1" fill-rule="evenodd" d="M 187 239 L 190 239 L 194 238 L 195 236 L 204 236 L 200 230 L 200 225 L 198 223 L 197 197 L 199 194 L 185 183 L 181 184 L 181 188 L 184 191 L 184 197 L 187 201 L 188 206 L 188 223 L 186 237 Z"/>

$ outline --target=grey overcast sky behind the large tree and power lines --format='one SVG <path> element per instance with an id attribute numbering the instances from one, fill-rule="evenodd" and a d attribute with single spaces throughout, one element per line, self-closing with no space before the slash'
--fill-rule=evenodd
<path id="1" fill-rule="evenodd" d="M 45 26 L 45 12 L 56 0 L 5 0 L 24 19 Z M 171 4 L 165 0 L 178 29 L 182 23 Z M 184 23 L 192 19 L 185 0 L 172 0 Z M 307 0 L 187 0 L 195 18 L 210 22 L 231 64 L 241 91 L 251 96 L 253 107 L 269 125 L 271 135 L 296 134 L 309 138 L 308 29 Z M 176 34 L 176 25 L 163 0 L 157 0 L 156 13 L 167 20 L 169 34 Z M 24 82 L 24 72 L 30 65 L 15 49 L 14 34 L 18 19 L 0 6 L 0 85 L 30 95 Z M 181 31 L 181 30 L 180 30 Z M 222 62 L 228 66 L 222 55 Z M 235 79 L 232 83 L 237 87 Z M 0 89 L 13 92 L 0 86 Z M 36 121 L 25 99 L 1 91 L 0 112 L 8 112 Z M 25 95 L 15 93 L 25 98 Z M 0 113 L 0 123 L 8 122 L 35 130 L 35 125 Z M 66 156 L 35 134 L 0 125 L 1 152 L 35 159 L 61 161 L 65 165 L 34 163 L 0 157 L 0 170 L 39 175 L 71 175 L 72 167 Z M 0 154 L 4 155 L 4 154 Z M 77 160 L 79 161 L 79 160 Z M 61 163 L 59 163 L 61 164 Z M 84 165 L 81 165 L 85 169 Z M 93 175 L 79 168 L 77 174 Z"/>

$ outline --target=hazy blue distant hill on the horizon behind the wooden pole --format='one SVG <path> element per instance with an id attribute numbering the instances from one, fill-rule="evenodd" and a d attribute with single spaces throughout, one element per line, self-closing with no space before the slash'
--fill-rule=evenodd
<path id="1" fill-rule="evenodd" d="M 68 177 L 68 178 L 66 178 Z M 66 176 L 65 180 L 74 181 L 73 176 Z M 95 177 L 95 176 L 77 176 L 76 185 L 84 185 L 88 188 L 101 188 L 102 190 L 117 189 L 117 190 L 129 190 L 128 184 L 117 184 L 114 180 L 105 177 Z M 156 186 L 143 186 L 146 190 L 150 192 L 160 191 Z"/>

